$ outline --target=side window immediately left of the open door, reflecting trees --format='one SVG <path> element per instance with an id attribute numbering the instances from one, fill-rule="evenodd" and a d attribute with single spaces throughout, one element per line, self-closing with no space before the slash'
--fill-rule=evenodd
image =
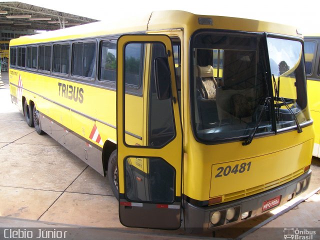
<path id="1" fill-rule="evenodd" d="M 100 79 L 115 82 L 116 41 L 103 41 L 101 44 Z"/>

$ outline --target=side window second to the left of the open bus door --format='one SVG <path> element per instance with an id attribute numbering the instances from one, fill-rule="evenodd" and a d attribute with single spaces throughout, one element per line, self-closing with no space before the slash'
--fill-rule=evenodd
<path id="1" fill-rule="evenodd" d="M 72 47 L 72 75 L 94 78 L 95 42 L 74 43 Z"/>

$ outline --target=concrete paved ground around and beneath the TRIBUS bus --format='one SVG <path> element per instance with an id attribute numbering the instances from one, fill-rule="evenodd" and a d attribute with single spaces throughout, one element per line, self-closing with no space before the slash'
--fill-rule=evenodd
<path id="1" fill-rule="evenodd" d="M 38 135 L 34 128 L 27 126 L 22 114 L 10 102 L 7 76 L 2 73 L 4 86 L 0 86 L 0 227 L 45 227 L 55 222 L 57 225 L 53 226 L 107 227 L 104 231 L 89 230 L 95 236 L 92 239 L 106 235 L 108 239 L 200 237 L 182 235 L 182 229 L 160 231 L 123 227 L 107 178 L 48 135 Z M 320 186 L 318 158 L 312 160 L 311 169 L 311 184 L 303 196 Z M 319 227 L 319 206 L 319 194 L 314 194 L 270 222 L 283 207 L 237 227 L 218 230 L 215 236 L 283 239 L 284 228 Z M 315 229 L 317 233 L 312 239 L 320 238 L 320 229 Z M 79 235 L 77 238 L 87 239 L 83 230 L 80 232 L 83 238 Z M 211 234 L 201 237 L 208 236 Z"/>

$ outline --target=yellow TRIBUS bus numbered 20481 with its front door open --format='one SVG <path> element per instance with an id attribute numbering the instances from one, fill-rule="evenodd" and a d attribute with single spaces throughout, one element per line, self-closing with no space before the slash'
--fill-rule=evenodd
<path id="1" fill-rule="evenodd" d="M 308 187 L 302 44 L 258 20 L 121 17 L 11 40 L 11 98 L 108 176 L 123 225 L 212 231 Z"/>

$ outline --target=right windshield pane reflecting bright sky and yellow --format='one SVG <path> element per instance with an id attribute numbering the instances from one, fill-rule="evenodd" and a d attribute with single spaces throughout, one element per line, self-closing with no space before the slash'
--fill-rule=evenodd
<path id="1" fill-rule="evenodd" d="M 306 121 L 301 109 L 306 105 L 303 92 L 304 66 L 302 44 L 299 41 L 267 38 L 277 129 L 294 126 Z M 297 91 L 297 87 L 301 87 Z"/>

